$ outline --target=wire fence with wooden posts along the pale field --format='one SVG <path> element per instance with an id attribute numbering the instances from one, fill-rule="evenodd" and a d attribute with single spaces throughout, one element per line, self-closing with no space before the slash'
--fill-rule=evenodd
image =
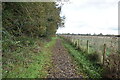
<path id="1" fill-rule="evenodd" d="M 103 55 L 103 64 L 105 57 L 110 54 L 118 53 L 118 37 L 107 36 L 80 36 L 80 35 L 61 35 L 76 48 L 85 51 L 88 54 L 98 53 Z"/>

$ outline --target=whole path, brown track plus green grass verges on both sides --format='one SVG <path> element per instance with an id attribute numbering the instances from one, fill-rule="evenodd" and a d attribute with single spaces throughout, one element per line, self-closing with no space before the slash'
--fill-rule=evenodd
<path id="1" fill-rule="evenodd" d="M 4 53 L 3 78 L 85 78 L 100 77 L 100 71 L 64 40 L 35 40 L 31 46 Z M 79 68 L 82 67 L 82 68 Z"/>

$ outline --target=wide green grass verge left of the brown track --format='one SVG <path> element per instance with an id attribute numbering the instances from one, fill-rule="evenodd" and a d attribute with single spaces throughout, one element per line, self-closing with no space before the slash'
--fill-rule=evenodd
<path id="1" fill-rule="evenodd" d="M 34 40 L 30 46 L 22 46 L 12 52 L 3 53 L 3 78 L 45 78 L 51 65 L 51 48 L 56 38 L 50 42 Z"/>

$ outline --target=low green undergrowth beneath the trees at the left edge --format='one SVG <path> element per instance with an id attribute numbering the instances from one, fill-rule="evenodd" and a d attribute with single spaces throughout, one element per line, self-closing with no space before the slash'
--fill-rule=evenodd
<path id="1" fill-rule="evenodd" d="M 34 38 L 27 36 L 14 37 L 4 28 L 2 30 L 2 52 L 13 52 L 22 47 L 34 44 Z"/>

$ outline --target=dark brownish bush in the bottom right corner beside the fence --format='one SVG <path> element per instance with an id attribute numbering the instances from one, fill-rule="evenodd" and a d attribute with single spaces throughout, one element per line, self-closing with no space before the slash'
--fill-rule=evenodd
<path id="1" fill-rule="evenodd" d="M 120 78 L 120 55 L 111 54 L 105 60 L 103 77 L 105 78 Z"/>

